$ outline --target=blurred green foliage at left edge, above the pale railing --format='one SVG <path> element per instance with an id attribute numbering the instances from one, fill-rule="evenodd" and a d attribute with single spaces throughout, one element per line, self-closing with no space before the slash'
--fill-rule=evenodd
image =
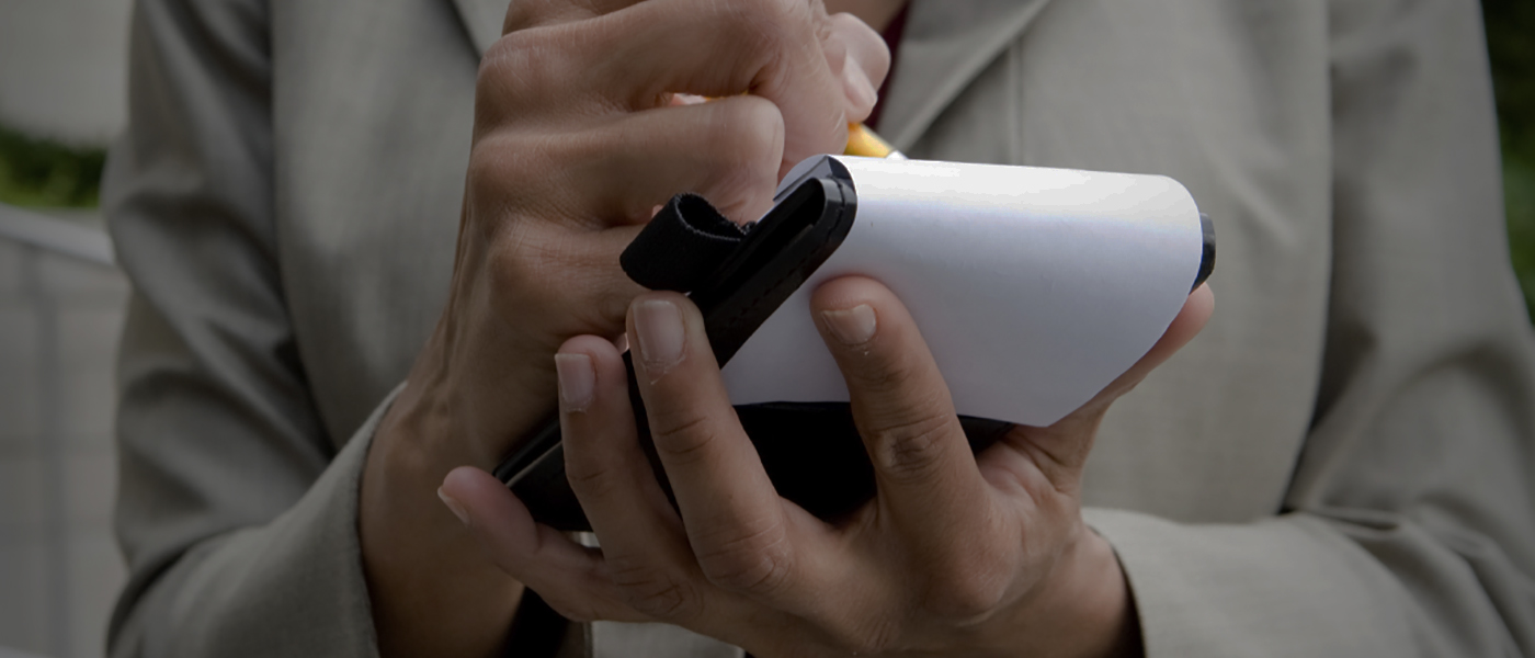
<path id="1" fill-rule="evenodd" d="M 0 126 L 0 202 L 94 207 L 106 152 L 38 140 Z"/>

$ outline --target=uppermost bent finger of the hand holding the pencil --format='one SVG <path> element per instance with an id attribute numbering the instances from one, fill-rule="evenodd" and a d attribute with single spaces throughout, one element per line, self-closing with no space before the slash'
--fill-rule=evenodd
<path id="1" fill-rule="evenodd" d="M 820 3 L 652 0 L 579 23 L 508 34 L 485 54 L 476 124 L 666 104 L 669 94 L 754 94 L 783 110 L 780 173 L 847 140 L 846 95 L 829 71 Z M 573 44 L 580 44 L 573 48 Z M 557 55 L 551 55 L 557 54 Z"/>

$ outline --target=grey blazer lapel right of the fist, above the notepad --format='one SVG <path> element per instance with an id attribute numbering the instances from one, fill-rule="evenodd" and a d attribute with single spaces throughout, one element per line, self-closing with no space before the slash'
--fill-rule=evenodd
<path id="1" fill-rule="evenodd" d="M 912 0 L 880 132 L 909 149 L 1050 0 Z"/>

